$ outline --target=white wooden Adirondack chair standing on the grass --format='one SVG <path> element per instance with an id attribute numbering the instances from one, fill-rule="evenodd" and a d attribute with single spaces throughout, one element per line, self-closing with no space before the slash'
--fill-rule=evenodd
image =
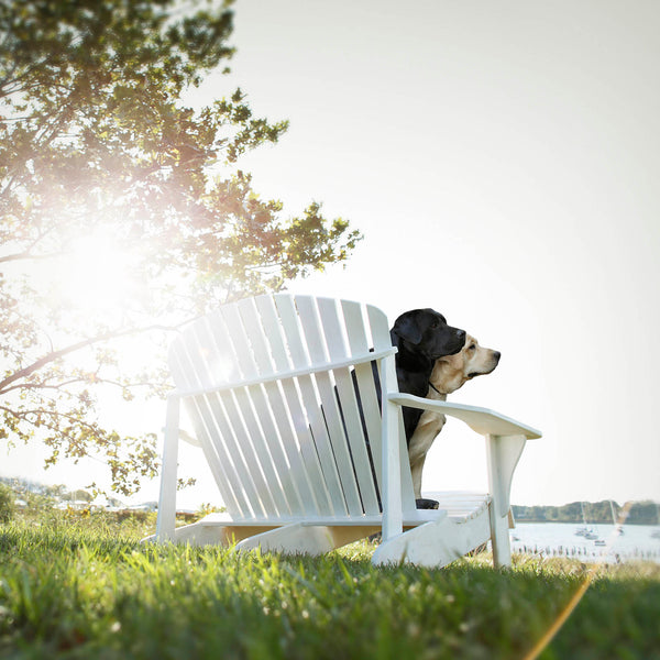
<path id="1" fill-rule="evenodd" d="M 488 539 L 494 564 L 508 564 L 512 479 L 526 440 L 540 433 L 482 408 L 399 394 L 395 352 L 385 315 L 346 300 L 261 296 L 191 323 L 169 354 L 176 389 L 151 538 L 318 554 L 382 530 L 376 564 L 442 566 Z M 227 513 L 175 529 L 180 403 Z M 415 507 L 403 405 L 485 437 L 490 493 Z"/>

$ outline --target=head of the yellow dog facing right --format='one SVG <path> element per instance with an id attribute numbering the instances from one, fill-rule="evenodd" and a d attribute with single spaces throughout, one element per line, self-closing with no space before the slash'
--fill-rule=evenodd
<path id="1" fill-rule="evenodd" d="M 451 394 L 475 376 L 493 372 L 501 355 L 499 351 L 480 346 L 474 337 L 466 334 L 458 353 L 436 360 L 429 381 L 441 394 Z"/>

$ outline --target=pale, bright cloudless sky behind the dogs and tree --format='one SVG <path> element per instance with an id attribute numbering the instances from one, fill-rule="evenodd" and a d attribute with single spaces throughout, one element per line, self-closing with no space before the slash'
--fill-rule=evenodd
<path id="1" fill-rule="evenodd" d="M 364 234 L 289 290 L 432 307 L 502 352 L 450 400 L 542 431 L 515 504 L 660 501 L 659 28 L 654 0 L 238 0 L 232 74 L 193 97 L 240 85 L 288 119 L 241 161 L 255 189 Z M 218 501 L 198 452 L 188 506 Z M 483 441 L 448 422 L 422 490 L 484 486 Z"/>

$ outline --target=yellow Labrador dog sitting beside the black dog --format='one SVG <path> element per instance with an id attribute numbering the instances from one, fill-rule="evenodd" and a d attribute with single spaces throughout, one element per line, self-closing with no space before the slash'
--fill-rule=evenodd
<path id="1" fill-rule="evenodd" d="M 463 348 L 452 355 L 436 360 L 428 382 L 427 398 L 447 400 L 447 395 L 462 387 L 468 381 L 495 371 L 502 353 L 479 345 L 471 334 L 465 336 Z M 413 474 L 413 488 L 417 508 L 437 508 L 435 499 L 421 497 L 421 472 L 433 440 L 442 430 L 446 417 L 425 410 L 408 442 L 408 457 Z"/>

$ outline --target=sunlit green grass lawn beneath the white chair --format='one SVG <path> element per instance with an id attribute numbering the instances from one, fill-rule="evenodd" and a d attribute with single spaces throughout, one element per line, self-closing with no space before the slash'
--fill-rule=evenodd
<path id="1" fill-rule="evenodd" d="M 51 514 L 0 526 L 0 658 L 660 658 L 660 566 L 487 556 L 443 570 L 140 546 L 152 519 Z"/>

